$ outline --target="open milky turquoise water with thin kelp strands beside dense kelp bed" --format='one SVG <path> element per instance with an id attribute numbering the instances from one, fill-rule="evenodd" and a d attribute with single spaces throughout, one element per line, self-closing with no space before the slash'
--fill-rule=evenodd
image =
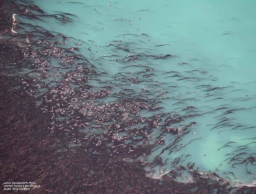
<path id="1" fill-rule="evenodd" d="M 256 2 L 70 2 L 77 1 L 35 0 L 49 14 L 62 11 L 76 15 L 69 25 L 61 25 L 50 19 L 39 25 L 80 40 L 66 42 L 66 45 L 80 47 L 81 54 L 88 57 L 99 71 L 108 72 L 108 76 L 100 78 L 103 83 L 91 80 L 91 84 L 98 88 L 104 87 L 106 81 L 121 79 L 120 72 L 130 73 L 135 78 L 147 66 L 152 68 L 148 73 L 152 75 L 143 78 L 145 82 L 130 82 L 123 88 L 114 87 L 111 92 L 119 92 L 124 88 L 137 92 L 147 89 L 160 94 L 159 98 L 166 97 L 159 104 L 164 109 L 156 113 L 174 111 L 178 115 L 198 114 L 187 117 L 176 126 L 182 129 L 189 122 L 197 122 L 187 135 L 180 137 L 171 154 L 169 150 L 161 153 L 174 141 L 171 135 L 167 135 L 164 137 L 165 144 L 158 150 L 138 158 L 152 162 L 161 153 L 163 161 L 168 159 L 161 168 L 157 166 L 154 173 L 149 172 L 149 177 L 160 178 L 174 169 L 172 162 L 180 158 L 184 165 L 195 163 L 202 173 L 216 172 L 226 179 L 227 174 L 232 172 L 236 178 L 230 174 L 228 177 L 233 183 L 255 184 L 254 166 L 250 163 L 245 166 L 243 163 L 234 168 L 232 164 L 237 161 L 230 162 L 230 155 L 226 154 L 232 153 L 234 156 L 246 150 L 246 154 L 240 155 L 241 161 L 249 156 L 255 157 Z M 110 43 L 113 45 L 109 46 Z M 129 51 L 122 50 L 122 47 L 117 49 L 115 44 L 122 44 Z M 156 60 L 144 54 L 173 56 Z M 133 55 L 136 58 L 126 63 Z M 54 61 L 52 65 L 56 65 Z M 164 91 L 166 93 L 162 95 Z M 113 98 L 107 98 L 104 102 L 111 100 Z M 225 111 L 229 110 L 232 113 L 225 115 Z M 140 112 L 142 116 L 147 114 L 145 111 Z M 149 135 L 154 141 L 154 133 Z M 229 146 L 221 148 L 226 144 Z M 246 149 L 239 150 L 239 146 Z M 246 167 L 252 174 L 247 174 Z M 180 181 L 189 181 L 188 174 L 182 176 L 184 180 Z"/>

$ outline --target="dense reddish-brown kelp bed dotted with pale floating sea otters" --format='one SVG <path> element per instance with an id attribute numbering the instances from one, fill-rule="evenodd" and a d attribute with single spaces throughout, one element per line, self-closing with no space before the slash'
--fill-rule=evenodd
<path id="1" fill-rule="evenodd" d="M 174 159 L 171 164 L 176 170 L 159 179 L 148 176 L 150 170 L 146 169 L 167 162 L 161 153 L 167 150 L 171 154 L 186 146 L 180 145 L 180 139 L 196 123 L 182 129 L 176 125 L 197 115 L 191 111 L 193 107 L 187 107 L 193 114 L 184 116 L 159 113 L 166 91 L 151 90 L 160 87 L 150 79 L 152 68 L 142 67 L 137 74 L 121 72 L 102 81 L 108 74 L 94 63 L 106 59 L 97 61 L 79 54 L 75 44 L 79 40 L 13 19 L 13 14 L 27 21 L 52 17 L 65 25 L 74 15 L 57 11 L 49 15 L 28 0 L 1 0 L 0 6 L 2 183 L 34 181 L 41 187 L 29 192 L 40 194 L 256 193 L 255 187 L 234 187 L 216 173 L 202 173 L 194 163 L 182 163 L 187 156 Z M 70 40 L 74 45 L 67 47 Z M 123 42 L 108 46 L 129 50 Z M 138 54 L 116 61 L 129 64 L 132 59 L 147 57 L 165 60 L 172 55 Z M 124 87 L 141 81 L 149 83 L 141 92 Z M 141 116 L 142 110 L 152 114 Z M 172 137 L 169 142 L 165 142 L 166 135 Z M 152 163 L 142 160 L 156 149 L 162 152 Z M 236 161 L 238 156 L 230 160 Z M 255 158 L 233 165 L 238 163 L 255 165 Z M 185 171 L 191 181 L 177 181 Z"/>

